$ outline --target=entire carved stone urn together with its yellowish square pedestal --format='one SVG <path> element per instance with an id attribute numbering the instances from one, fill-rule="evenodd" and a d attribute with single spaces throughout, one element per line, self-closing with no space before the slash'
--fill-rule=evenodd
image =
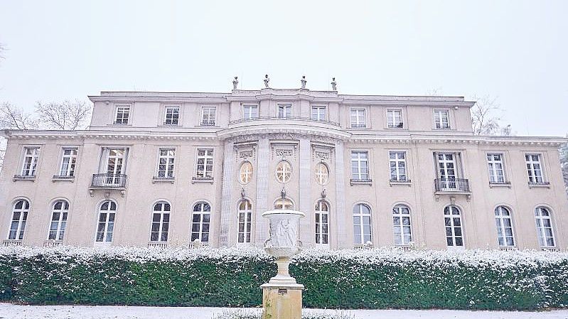
<path id="1" fill-rule="evenodd" d="M 270 221 L 270 238 L 264 242 L 267 254 L 277 257 L 278 273 L 262 286 L 262 319 L 301 319 L 301 291 L 289 274 L 290 257 L 301 250 L 298 239 L 300 218 L 296 210 L 270 210 L 262 214 Z"/>

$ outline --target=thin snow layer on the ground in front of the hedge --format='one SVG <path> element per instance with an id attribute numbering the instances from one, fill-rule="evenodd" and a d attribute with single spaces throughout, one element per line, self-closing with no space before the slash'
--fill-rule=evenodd
<path id="1" fill-rule="evenodd" d="M 130 306 L 22 306 L 0 303 L 1 319 L 208 319 L 229 308 Z M 260 312 L 258 308 L 250 308 Z M 333 313 L 336 310 L 307 309 Z M 343 310 L 355 319 L 568 319 L 568 310 L 541 312 L 467 310 Z"/>

